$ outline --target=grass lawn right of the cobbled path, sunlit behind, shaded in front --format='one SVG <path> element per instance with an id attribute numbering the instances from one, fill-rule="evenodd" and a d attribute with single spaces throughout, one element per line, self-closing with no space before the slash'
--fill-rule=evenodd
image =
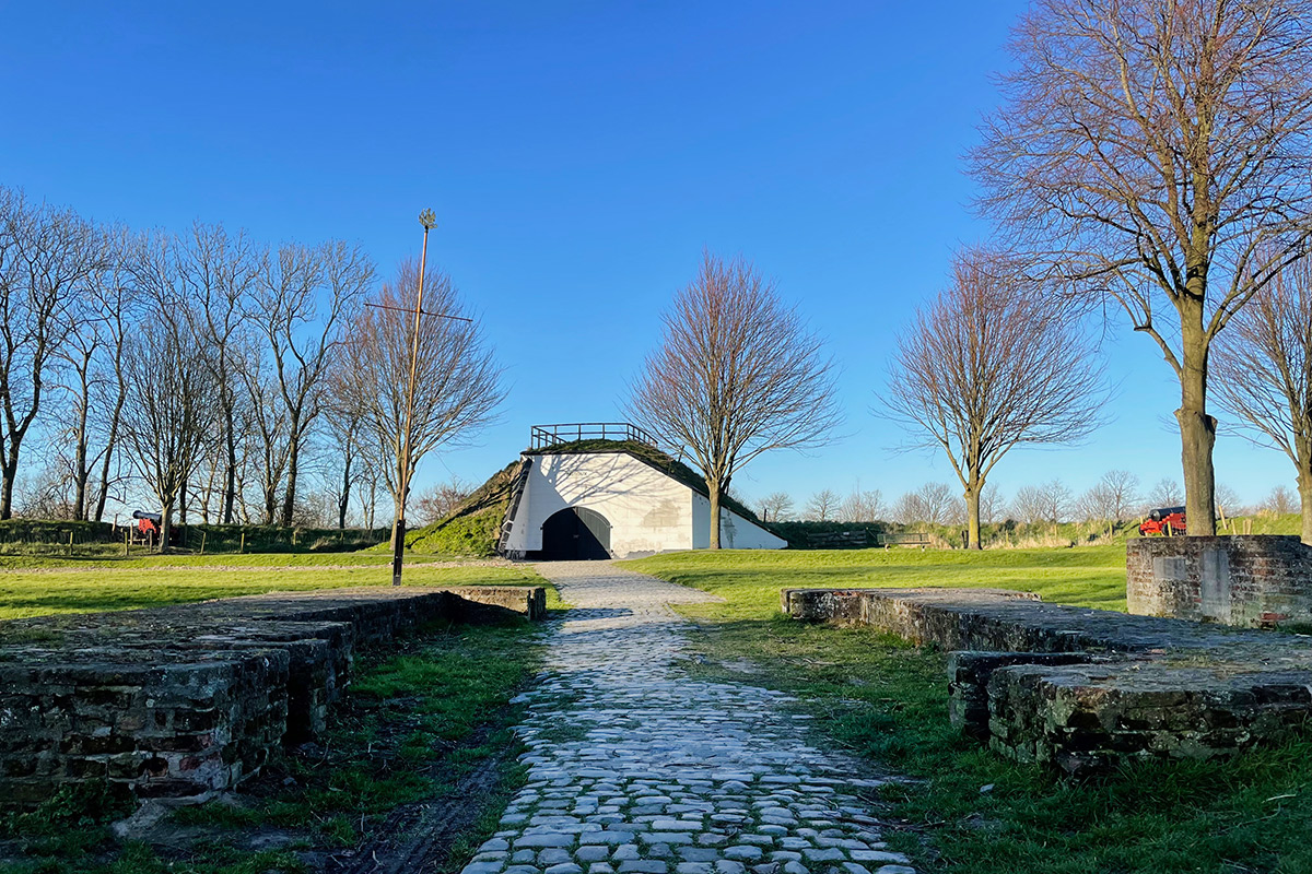
<path id="1" fill-rule="evenodd" d="M 886 833 L 922 871 L 1305 874 L 1312 743 L 1224 763 L 1152 761 L 1088 781 L 1015 765 L 954 732 L 941 653 L 785 618 L 786 587 L 1002 586 L 1124 609 L 1124 550 L 676 553 L 626 566 L 702 588 L 701 671 L 800 694 L 838 748 L 914 778 Z M 745 672 L 744 660 L 756 666 Z"/>

